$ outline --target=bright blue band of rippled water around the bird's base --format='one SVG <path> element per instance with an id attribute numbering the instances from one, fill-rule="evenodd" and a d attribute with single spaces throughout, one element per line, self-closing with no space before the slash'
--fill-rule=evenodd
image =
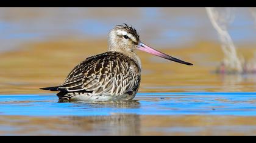
<path id="1" fill-rule="evenodd" d="M 233 115 L 256 116 L 256 93 L 138 93 L 135 101 L 57 102 L 55 95 L 1 95 L 0 115 L 109 116 Z"/>

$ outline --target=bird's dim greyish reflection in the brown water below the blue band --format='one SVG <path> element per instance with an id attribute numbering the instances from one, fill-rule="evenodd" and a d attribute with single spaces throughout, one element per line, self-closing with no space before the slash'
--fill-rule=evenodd
<path id="1" fill-rule="evenodd" d="M 80 135 L 140 135 L 140 115 L 68 116 Z"/>

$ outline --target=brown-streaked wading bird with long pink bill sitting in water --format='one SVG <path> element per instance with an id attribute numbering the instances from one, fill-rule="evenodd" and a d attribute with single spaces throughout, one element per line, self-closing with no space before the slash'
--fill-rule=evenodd
<path id="1" fill-rule="evenodd" d="M 159 52 L 140 41 L 132 25 L 116 25 L 108 33 L 108 51 L 80 62 L 65 82 L 41 90 L 59 91 L 59 101 L 130 101 L 135 98 L 141 81 L 141 60 L 137 50 L 193 65 Z"/>

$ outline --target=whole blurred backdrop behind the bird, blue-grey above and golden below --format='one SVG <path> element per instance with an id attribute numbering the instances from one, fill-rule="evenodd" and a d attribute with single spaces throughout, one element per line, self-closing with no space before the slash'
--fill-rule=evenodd
<path id="1" fill-rule="evenodd" d="M 255 54 L 255 13 L 236 8 L 229 33 L 238 55 Z M 193 62 L 176 64 L 138 52 L 140 92 L 254 91 L 253 75 L 218 75 L 224 54 L 205 8 L 0 8 L 0 93 L 45 93 L 88 56 L 107 51 L 107 35 L 133 25 L 141 41 Z"/>

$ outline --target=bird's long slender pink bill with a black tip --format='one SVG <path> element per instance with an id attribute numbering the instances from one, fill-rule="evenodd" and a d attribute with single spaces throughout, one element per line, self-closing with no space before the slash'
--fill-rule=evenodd
<path id="1" fill-rule="evenodd" d="M 168 60 L 171 60 L 171 61 L 174 61 L 174 62 L 179 62 L 180 64 L 193 65 L 190 62 L 185 62 L 185 61 L 182 61 L 180 59 L 174 58 L 172 56 L 166 55 L 165 53 L 159 52 L 159 51 L 155 50 L 154 48 L 151 48 L 148 45 L 143 44 L 142 42 L 140 42 L 138 44 L 138 50 L 148 52 L 148 53 L 151 53 L 152 55 L 160 56 L 162 58 L 165 58 L 165 59 L 168 59 Z"/>

